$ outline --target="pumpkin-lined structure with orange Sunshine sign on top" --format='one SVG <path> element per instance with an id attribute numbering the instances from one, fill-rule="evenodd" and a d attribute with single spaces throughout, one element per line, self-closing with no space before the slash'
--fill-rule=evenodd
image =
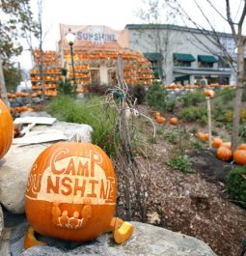
<path id="1" fill-rule="evenodd" d="M 142 52 L 129 49 L 128 31 L 116 31 L 107 26 L 60 25 L 60 52 L 63 63 L 72 77 L 70 46 L 66 35 L 70 30 L 75 34 L 73 59 L 76 84 L 80 88 L 91 85 L 116 83 L 116 62 L 123 59 L 123 77 L 128 85 L 150 86 L 152 71 L 150 62 Z"/>

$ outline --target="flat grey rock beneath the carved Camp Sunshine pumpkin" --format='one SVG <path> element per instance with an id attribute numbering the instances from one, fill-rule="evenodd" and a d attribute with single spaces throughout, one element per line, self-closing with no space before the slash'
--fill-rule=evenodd
<path id="1" fill-rule="evenodd" d="M 116 244 L 111 234 L 103 234 L 94 242 L 84 244 L 63 242 L 53 239 L 42 241 L 52 246 L 34 246 L 23 251 L 20 256 L 216 256 L 210 247 L 198 239 L 175 233 L 164 228 L 131 222 L 135 231 L 123 244 Z M 14 254 L 13 254 L 14 255 Z"/>

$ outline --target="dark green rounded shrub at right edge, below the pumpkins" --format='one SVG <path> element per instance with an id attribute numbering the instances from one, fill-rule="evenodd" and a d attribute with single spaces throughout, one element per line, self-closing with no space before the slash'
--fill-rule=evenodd
<path id="1" fill-rule="evenodd" d="M 227 191 L 236 203 L 246 208 L 246 166 L 232 169 L 227 177 Z"/>

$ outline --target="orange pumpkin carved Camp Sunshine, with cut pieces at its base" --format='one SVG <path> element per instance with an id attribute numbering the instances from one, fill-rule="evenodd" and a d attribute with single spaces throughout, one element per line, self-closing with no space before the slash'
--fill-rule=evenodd
<path id="1" fill-rule="evenodd" d="M 41 244 L 34 232 L 87 242 L 112 231 L 116 242 L 127 240 L 134 228 L 114 217 L 116 183 L 110 158 L 96 145 L 59 142 L 46 148 L 26 185 L 25 212 L 31 227 L 25 248 Z"/>

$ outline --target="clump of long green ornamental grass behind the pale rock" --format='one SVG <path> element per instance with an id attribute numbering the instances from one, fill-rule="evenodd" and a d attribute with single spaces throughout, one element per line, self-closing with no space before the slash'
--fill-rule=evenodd
<path id="1" fill-rule="evenodd" d="M 95 97 L 90 100 L 74 100 L 68 96 L 60 96 L 50 101 L 46 111 L 60 121 L 91 126 L 94 129 L 93 143 L 108 155 L 114 155 L 116 113 L 112 108 L 106 111 L 101 99 Z"/>

